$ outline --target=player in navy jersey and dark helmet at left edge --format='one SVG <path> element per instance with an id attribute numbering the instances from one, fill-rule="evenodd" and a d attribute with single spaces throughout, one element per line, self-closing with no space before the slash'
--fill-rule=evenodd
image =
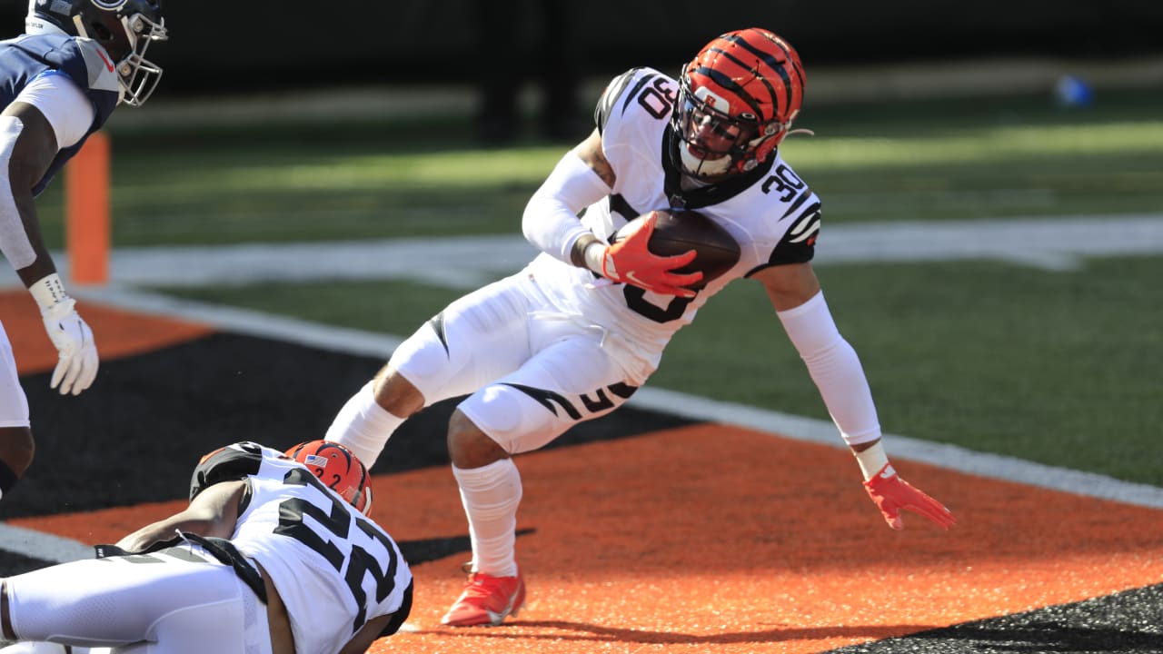
<path id="1" fill-rule="evenodd" d="M 41 239 L 34 199 L 119 104 L 149 98 L 166 38 L 160 0 L 29 0 L 26 34 L 0 42 L 0 251 L 28 287 L 59 358 L 50 386 L 78 394 L 97 376 L 93 333 Z M 0 496 L 33 461 L 28 400 L 0 326 Z"/>

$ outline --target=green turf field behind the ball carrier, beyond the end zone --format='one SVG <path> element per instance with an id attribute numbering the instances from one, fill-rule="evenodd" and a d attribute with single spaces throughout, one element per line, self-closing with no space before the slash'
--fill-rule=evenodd
<path id="1" fill-rule="evenodd" d="M 805 108 L 783 147 L 828 225 L 1163 212 L 1163 91 Z M 145 107 L 142 111 L 149 111 Z M 117 246 L 515 234 L 569 144 L 469 123 L 114 131 Z M 57 204 L 53 212 L 53 202 Z M 44 204 L 60 239 L 59 197 Z M 889 432 L 1163 485 L 1163 257 L 820 266 Z M 405 335 L 457 292 L 404 282 L 170 290 Z M 757 284 L 680 333 L 654 385 L 826 418 Z"/>

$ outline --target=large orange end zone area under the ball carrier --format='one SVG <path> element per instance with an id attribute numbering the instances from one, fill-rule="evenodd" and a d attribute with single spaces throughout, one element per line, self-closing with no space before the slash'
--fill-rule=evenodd
<path id="1" fill-rule="evenodd" d="M 523 455 L 518 526 L 535 532 L 518 540 L 521 614 L 440 626 L 469 556 L 422 563 L 416 631 L 371 652 L 815 653 L 1163 580 L 1163 511 L 896 463 L 956 527 L 906 514 L 893 532 L 847 452 L 741 428 Z M 398 540 L 468 533 L 448 468 L 374 483 L 374 517 Z M 183 505 L 10 524 L 112 541 Z"/>

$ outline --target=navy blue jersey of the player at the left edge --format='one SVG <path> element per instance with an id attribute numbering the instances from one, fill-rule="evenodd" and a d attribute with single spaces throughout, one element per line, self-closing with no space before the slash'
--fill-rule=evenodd
<path id="1" fill-rule="evenodd" d="M 109 119 L 120 100 L 117 73 L 113 62 L 97 42 L 59 35 L 22 35 L 0 41 L 0 102 L 7 107 L 28 84 L 42 74 L 64 74 L 77 84 L 93 104 L 93 125 L 80 141 L 62 149 L 44 177 L 33 187 L 40 196 L 53 176 L 76 155 L 88 135 Z"/>

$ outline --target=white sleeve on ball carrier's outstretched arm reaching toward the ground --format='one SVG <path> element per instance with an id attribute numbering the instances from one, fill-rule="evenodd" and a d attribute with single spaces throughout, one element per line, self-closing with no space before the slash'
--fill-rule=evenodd
<path id="1" fill-rule="evenodd" d="M 880 424 L 864 368 L 856 350 L 836 329 L 823 301 L 823 291 L 777 315 L 807 364 L 844 442 L 859 445 L 880 438 Z"/>

